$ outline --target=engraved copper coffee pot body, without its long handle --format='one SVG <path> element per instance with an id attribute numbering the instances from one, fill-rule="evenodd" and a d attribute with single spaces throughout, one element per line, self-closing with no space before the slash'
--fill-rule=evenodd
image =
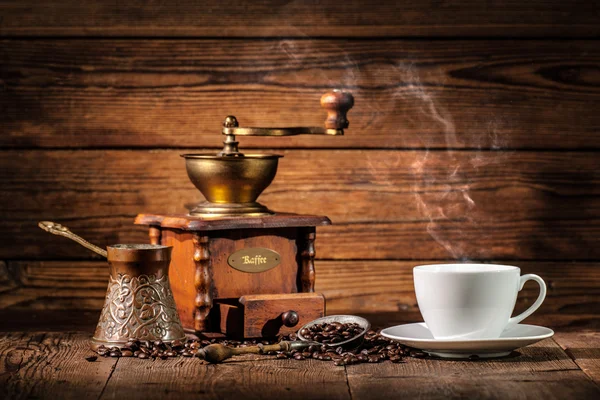
<path id="1" fill-rule="evenodd" d="M 93 350 L 100 345 L 122 347 L 132 338 L 185 340 L 169 284 L 172 249 L 150 244 L 107 247 L 110 276 Z"/>

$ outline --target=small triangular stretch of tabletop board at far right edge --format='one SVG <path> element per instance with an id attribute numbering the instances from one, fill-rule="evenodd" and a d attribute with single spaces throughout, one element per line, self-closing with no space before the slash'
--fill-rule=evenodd
<path id="1" fill-rule="evenodd" d="M 600 331 L 558 332 L 554 340 L 600 387 Z"/>

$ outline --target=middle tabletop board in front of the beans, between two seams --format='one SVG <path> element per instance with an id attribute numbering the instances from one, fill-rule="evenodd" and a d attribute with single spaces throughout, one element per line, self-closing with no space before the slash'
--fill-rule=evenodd
<path id="1" fill-rule="evenodd" d="M 137 359 L 120 359 L 100 399 L 350 398 L 344 369 L 312 359 L 298 362 L 244 356 L 208 365 L 179 358 L 143 365 L 140 368 Z"/>

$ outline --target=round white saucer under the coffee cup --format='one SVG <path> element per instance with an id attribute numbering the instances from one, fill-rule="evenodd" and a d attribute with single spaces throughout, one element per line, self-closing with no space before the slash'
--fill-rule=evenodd
<path id="1" fill-rule="evenodd" d="M 543 326 L 519 324 L 502 332 L 497 339 L 436 340 L 424 322 L 392 326 L 381 331 L 386 338 L 442 358 L 504 357 L 519 347 L 552 337 Z"/>

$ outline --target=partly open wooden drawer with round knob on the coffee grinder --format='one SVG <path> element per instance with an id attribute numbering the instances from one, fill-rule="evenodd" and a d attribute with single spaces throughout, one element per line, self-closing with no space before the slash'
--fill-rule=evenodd
<path id="1" fill-rule="evenodd" d="M 236 302 L 215 300 L 215 306 L 220 332 L 237 338 L 289 335 L 325 315 L 325 298 L 318 293 L 245 295 Z"/>

